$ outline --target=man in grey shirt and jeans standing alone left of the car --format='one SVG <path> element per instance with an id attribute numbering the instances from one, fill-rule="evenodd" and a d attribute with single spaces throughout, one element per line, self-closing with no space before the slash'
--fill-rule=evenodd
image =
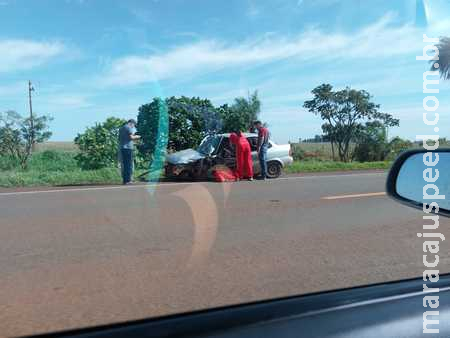
<path id="1" fill-rule="evenodd" d="M 141 138 L 139 135 L 135 135 L 135 127 L 136 121 L 131 119 L 119 129 L 119 148 L 123 184 L 130 184 L 131 178 L 133 177 L 133 141 Z"/>

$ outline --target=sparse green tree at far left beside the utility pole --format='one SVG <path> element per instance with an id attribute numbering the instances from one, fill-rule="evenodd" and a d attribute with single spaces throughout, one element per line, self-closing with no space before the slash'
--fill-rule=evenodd
<path id="1" fill-rule="evenodd" d="M 23 118 L 15 111 L 0 114 L 0 153 L 8 154 L 26 169 L 33 143 L 42 143 L 51 137 L 50 121 L 49 116 L 35 116 L 31 121 L 30 117 Z"/>

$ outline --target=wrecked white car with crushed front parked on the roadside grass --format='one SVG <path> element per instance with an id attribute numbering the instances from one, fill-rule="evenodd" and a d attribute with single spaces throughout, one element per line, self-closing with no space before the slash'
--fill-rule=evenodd
<path id="1" fill-rule="evenodd" d="M 253 170 L 257 176 L 260 165 L 256 146 L 258 135 L 244 134 L 252 147 Z M 182 180 L 210 178 L 215 166 L 226 165 L 236 168 L 236 158 L 233 146 L 230 144 L 230 134 L 210 135 L 203 139 L 197 150 L 186 149 L 167 155 L 166 177 Z M 267 174 L 269 178 L 277 178 L 282 174 L 283 167 L 293 162 L 289 144 L 277 145 L 269 141 L 267 152 Z"/>

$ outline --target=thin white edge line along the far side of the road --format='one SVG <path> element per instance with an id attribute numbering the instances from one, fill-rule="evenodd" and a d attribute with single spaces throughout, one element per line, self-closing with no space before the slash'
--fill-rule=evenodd
<path id="1" fill-rule="evenodd" d="M 262 184 L 275 183 L 277 181 L 285 180 L 308 180 L 315 178 L 336 178 L 336 177 L 355 177 L 355 176 L 379 176 L 385 175 L 385 173 L 359 173 L 359 174 L 341 174 L 341 175 L 314 175 L 314 176 L 291 176 L 280 177 L 276 180 L 268 180 L 261 182 Z M 83 191 L 107 191 L 107 190 L 136 190 L 151 187 L 170 187 L 170 186 L 183 186 L 191 184 L 201 184 L 202 182 L 177 182 L 177 183 L 151 183 L 140 185 L 128 185 L 128 186 L 112 186 L 112 187 L 88 187 L 88 188 L 67 188 L 67 189 L 49 189 L 49 190 L 33 190 L 33 191 L 15 191 L 0 193 L 1 196 L 20 196 L 20 195 L 37 195 L 37 194 L 54 194 L 54 193 L 69 193 L 69 192 L 83 192 Z M 208 182 L 203 182 L 208 183 Z M 212 183 L 212 182 L 210 182 Z M 234 182 L 231 182 L 234 183 Z M 223 184 L 223 183 L 213 183 Z"/>

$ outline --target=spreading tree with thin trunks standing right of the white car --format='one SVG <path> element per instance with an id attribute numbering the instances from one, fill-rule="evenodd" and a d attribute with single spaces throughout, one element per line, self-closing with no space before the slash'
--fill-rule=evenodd
<path id="1" fill-rule="evenodd" d="M 314 98 L 303 105 L 325 123 L 323 132 L 333 147 L 337 147 L 339 159 L 349 162 L 352 158 L 350 143 L 361 135 L 365 123 L 378 121 L 384 127 L 398 126 L 399 120 L 379 111 L 380 106 L 371 102 L 371 96 L 364 90 L 345 88 L 333 91 L 330 84 L 322 84 L 312 90 Z"/>

